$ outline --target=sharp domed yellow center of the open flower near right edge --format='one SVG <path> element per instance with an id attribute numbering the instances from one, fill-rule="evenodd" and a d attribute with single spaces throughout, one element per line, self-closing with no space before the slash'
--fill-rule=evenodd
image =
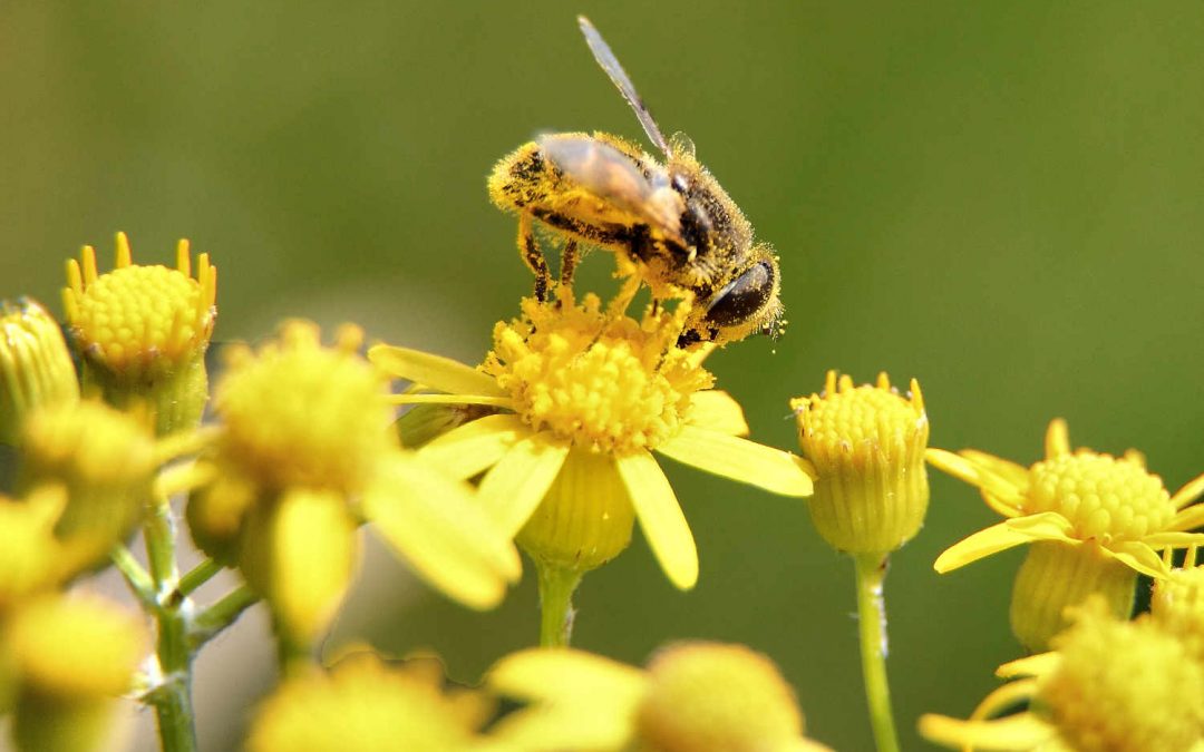
<path id="1" fill-rule="evenodd" d="M 1140 540 L 1175 516 L 1162 479 L 1131 460 L 1079 451 L 1038 462 L 1025 513 L 1056 511 L 1082 540 Z"/>

